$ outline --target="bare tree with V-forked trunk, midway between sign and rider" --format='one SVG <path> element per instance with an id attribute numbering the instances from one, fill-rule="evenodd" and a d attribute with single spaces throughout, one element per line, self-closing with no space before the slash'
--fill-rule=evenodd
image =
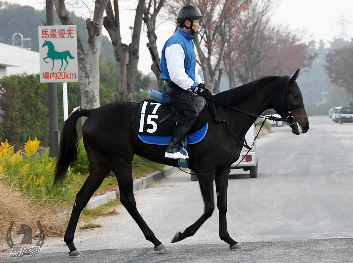
<path id="1" fill-rule="evenodd" d="M 107 16 L 104 17 L 103 24 L 109 33 L 110 39 L 112 40 L 115 64 L 118 73 L 118 92 L 116 99 L 134 101 L 145 0 L 138 1 L 132 40 L 129 45 L 122 43 L 121 41 L 118 0 L 113 0 L 113 4 L 114 10 L 110 1 L 108 2 L 106 7 Z"/>

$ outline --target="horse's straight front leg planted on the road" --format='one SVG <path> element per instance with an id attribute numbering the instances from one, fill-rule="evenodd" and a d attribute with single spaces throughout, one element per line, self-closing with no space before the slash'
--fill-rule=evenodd
<path id="1" fill-rule="evenodd" d="M 219 210 L 220 238 L 227 242 L 231 249 L 242 249 L 240 244 L 229 236 L 227 228 L 227 189 L 230 167 L 215 174 L 217 208 Z"/>

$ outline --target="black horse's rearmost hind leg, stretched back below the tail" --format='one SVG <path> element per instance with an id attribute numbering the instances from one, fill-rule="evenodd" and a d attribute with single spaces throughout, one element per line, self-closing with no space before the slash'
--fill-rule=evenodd
<path id="1" fill-rule="evenodd" d="M 72 257 L 82 256 L 82 253 L 78 251 L 73 244 L 73 238 L 78 218 L 82 210 L 87 205 L 92 194 L 94 194 L 94 192 L 100 187 L 102 181 L 107 176 L 109 171 L 110 169 L 104 166 L 101 166 L 97 169 L 91 168 L 90 175 L 88 176 L 80 191 L 78 191 L 78 193 L 76 194 L 76 199 L 72 208 L 70 221 L 68 222 L 68 226 L 64 236 L 64 241 L 70 250 L 69 255 Z"/>

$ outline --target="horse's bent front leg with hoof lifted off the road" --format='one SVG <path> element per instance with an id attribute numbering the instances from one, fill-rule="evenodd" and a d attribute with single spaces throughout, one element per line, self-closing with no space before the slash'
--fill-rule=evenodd
<path id="1" fill-rule="evenodd" d="M 205 203 L 205 210 L 203 215 L 190 227 L 186 228 L 183 233 L 178 232 L 172 243 L 183 240 L 189 236 L 193 236 L 196 231 L 202 226 L 202 224 L 211 217 L 213 210 L 215 209 L 214 198 L 213 198 L 213 174 L 206 176 L 199 176 L 199 185 L 201 189 L 201 194 Z"/>

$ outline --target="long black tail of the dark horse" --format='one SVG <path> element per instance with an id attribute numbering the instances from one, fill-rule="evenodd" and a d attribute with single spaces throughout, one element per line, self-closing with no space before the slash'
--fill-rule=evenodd
<path id="1" fill-rule="evenodd" d="M 93 110 L 85 110 L 76 108 L 64 122 L 62 127 L 59 157 L 55 167 L 55 179 L 53 187 L 56 183 L 65 179 L 69 166 L 73 165 L 77 159 L 79 152 L 79 140 L 76 130 L 77 120 L 80 117 L 88 117 Z"/>

